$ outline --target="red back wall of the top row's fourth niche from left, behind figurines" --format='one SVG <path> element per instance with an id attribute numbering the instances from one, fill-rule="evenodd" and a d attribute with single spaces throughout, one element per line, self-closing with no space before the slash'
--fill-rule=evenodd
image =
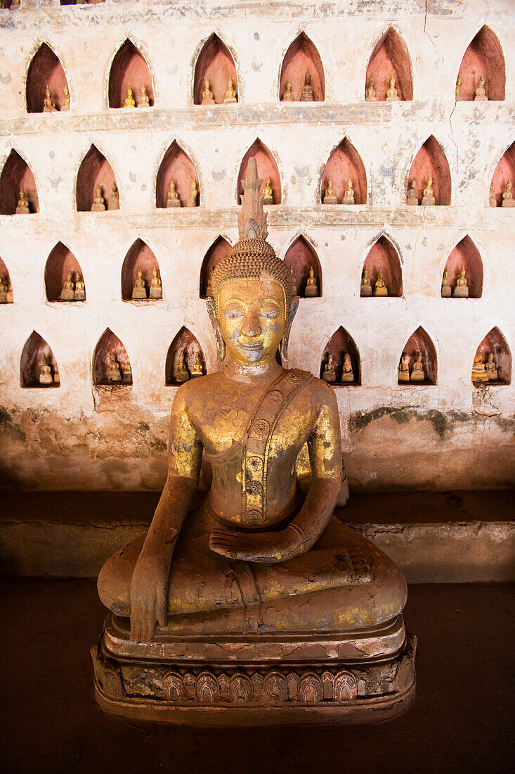
<path id="1" fill-rule="evenodd" d="M 281 78 L 279 79 L 279 99 L 282 99 L 286 84 L 289 81 L 292 84 L 294 101 L 300 100 L 307 70 L 309 70 L 311 75 L 313 99 L 315 102 L 323 102 L 326 95 L 326 79 L 324 77 L 322 60 L 312 40 L 305 33 L 300 33 L 288 48 L 285 58 L 282 60 Z"/>

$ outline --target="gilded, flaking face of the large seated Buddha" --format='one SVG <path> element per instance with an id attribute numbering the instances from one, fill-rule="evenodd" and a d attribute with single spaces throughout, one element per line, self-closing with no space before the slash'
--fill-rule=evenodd
<path id="1" fill-rule="evenodd" d="M 218 300 L 223 340 L 238 365 L 265 365 L 285 331 L 285 294 L 269 277 L 233 279 L 224 283 Z"/>

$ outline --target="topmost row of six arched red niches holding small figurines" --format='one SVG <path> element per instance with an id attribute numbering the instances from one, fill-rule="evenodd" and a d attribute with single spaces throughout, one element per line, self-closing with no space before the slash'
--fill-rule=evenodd
<path id="1" fill-rule="evenodd" d="M 193 104 L 214 107 L 239 101 L 234 56 L 213 33 L 196 57 Z M 455 87 L 456 101 L 503 100 L 506 65 L 493 30 L 483 26 L 463 56 Z M 138 46 L 126 39 L 114 55 L 107 88 L 110 108 L 150 108 L 155 104 L 154 79 Z M 443 94 L 433 97 L 442 98 Z M 282 102 L 321 102 L 326 97 L 324 68 L 312 40 L 300 33 L 281 65 L 278 99 Z M 377 42 L 367 66 L 363 98 L 367 102 L 413 99 L 413 68 L 408 48 L 389 27 Z M 53 113 L 70 108 L 68 81 L 59 57 L 42 43 L 29 63 L 26 77 L 29 113 Z M 80 108 L 80 105 L 79 105 Z"/>

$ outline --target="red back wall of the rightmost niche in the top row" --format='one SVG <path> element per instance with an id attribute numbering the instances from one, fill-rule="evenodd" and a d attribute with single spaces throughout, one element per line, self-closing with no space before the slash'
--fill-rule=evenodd
<path id="1" fill-rule="evenodd" d="M 485 78 L 484 88 L 489 100 L 505 99 L 506 64 L 503 47 L 496 33 L 486 25 L 469 43 L 459 66 L 464 100 L 474 99 L 481 75 Z"/>

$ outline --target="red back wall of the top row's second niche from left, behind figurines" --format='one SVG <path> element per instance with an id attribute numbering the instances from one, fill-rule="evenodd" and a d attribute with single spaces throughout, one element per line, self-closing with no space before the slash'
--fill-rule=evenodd
<path id="1" fill-rule="evenodd" d="M 149 106 L 154 104 L 154 82 L 142 52 L 126 39 L 114 55 L 109 73 L 109 107 L 123 108 L 130 87 L 137 108 L 141 108 L 142 86 L 145 87 Z M 146 105 L 145 105 L 146 107 Z"/>

